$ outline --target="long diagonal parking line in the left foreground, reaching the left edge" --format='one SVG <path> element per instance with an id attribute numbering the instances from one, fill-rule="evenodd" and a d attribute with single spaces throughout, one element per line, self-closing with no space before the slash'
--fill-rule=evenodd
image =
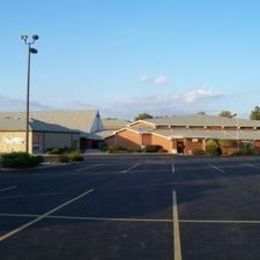
<path id="1" fill-rule="evenodd" d="M 15 235 L 15 234 L 17 234 L 17 233 L 23 231 L 23 230 L 25 230 L 26 228 L 32 226 L 33 224 L 35 224 L 35 223 L 41 221 L 42 219 L 48 217 L 48 216 L 51 215 L 52 213 L 54 213 L 54 212 L 58 211 L 59 209 L 61 209 L 61 208 L 65 207 L 65 206 L 71 204 L 72 202 L 74 202 L 74 201 L 76 201 L 76 200 L 78 200 L 78 199 L 80 199 L 80 198 L 82 198 L 82 197 L 88 195 L 89 193 L 91 193 L 91 192 L 93 192 L 93 191 L 94 191 L 94 189 L 87 190 L 87 191 L 81 193 L 79 196 L 77 196 L 77 197 L 75 197 L 75 198 L 73 198 L 73 199 L 71 199 L 71 200 L 68 200 L 68 201 L 62 203 L 61 205 L 59 205 L 59 206 L 53 208 L 52 210 L 47 211 L 47 212 L 44 213 L 43 215 L 40 215 L 40 216 L 37 217 L 36 219 L 34 219 L 34 220 L 32 220 L 32 221 L 29 221 L 28 223 L 26 223 L 26 224 L 20 226 L 19 228 L 16 228 L 16 229 L 14 229 L 14 230 L 12 230 L 12 231 L 6 233 L 5 235 L 0 236 L 0 242 L 4 241 L 5 239 L 7 239 L 7 238 L 9 238 L 9 237 L 11 237 L 11 236 L 13 236 L 13 235 Z"/>

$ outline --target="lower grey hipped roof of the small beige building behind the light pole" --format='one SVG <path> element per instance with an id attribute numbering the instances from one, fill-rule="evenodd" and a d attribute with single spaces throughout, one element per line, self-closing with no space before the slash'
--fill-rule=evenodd
<path id="1" fill-rule="evenodd" d="M 26 122 L 24 118 L 0 118 L 0 131 L 25 131 Z M 49 124 L 31 118 L 29 121 L 29 130 L 37 132 L 59 132 L 59 133 L 79 133 L 60 125 Z"/>

